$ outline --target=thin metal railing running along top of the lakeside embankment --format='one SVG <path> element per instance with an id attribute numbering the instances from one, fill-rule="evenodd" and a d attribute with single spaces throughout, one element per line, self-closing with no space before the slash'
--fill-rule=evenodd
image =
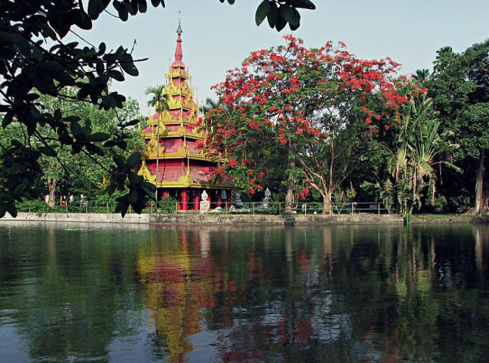
<path id="1" fill-rule="evenodd" d="M 34 213 L 115 213 L 116 202 L 100 202 L 94 200 L 80 200 L 75 202 L 56 202 L 56 203 L 27 203 L 19 205 L 20 212 Z M 327 203 L 322 202 L 293 202 L 290 206 L 293 214 L 390 214 L 397 212 L 396 209 L 386 208 L 380 202 L 341 202 Z M 128 213 L 132 213 L 131 207 Z M 194 202 L 149 202 L 143 213 L 147 214 L 189 214 L 203 213 L 200 203 Z M 285 202 L 242 202 L 240 205 L 223 201 L 220 204 L 211 202 L 210 209 L 205 213 L 215 214 L 285 214 L 287 211 Z"/>

